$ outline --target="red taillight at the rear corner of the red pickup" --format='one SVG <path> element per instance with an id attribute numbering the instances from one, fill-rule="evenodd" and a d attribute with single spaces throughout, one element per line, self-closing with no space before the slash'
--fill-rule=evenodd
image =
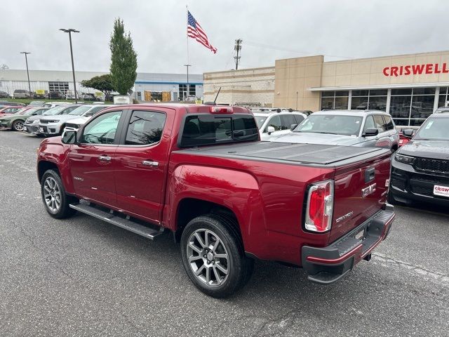
<path id="1" fill-rule="evenodd" d="M 327 232 L 332 224 L 333 180 L 312 184 L 307 197 L 304 227 L 313 232 Z"/>

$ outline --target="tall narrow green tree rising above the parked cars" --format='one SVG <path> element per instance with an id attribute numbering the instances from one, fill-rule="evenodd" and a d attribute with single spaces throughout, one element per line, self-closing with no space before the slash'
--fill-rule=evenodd
<path id="1" fill-rule="evenodd" d="M 114 90 L 121 95 L 128 94 L 133 88 L 138 68 L 138 55 L 133 48 L 133 39 L 130 32 L 125 33 L 123 20 L 120 18 L 114 21 L 114 30 L 111 35 L 111 80 Z"/>

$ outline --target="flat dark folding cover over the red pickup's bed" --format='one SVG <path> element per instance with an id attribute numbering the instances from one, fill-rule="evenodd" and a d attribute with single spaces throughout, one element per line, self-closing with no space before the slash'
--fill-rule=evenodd
<path id="1" fill-rule="evenodd" d="M 209 157 L 271 161 L 280 164 L 338 167 L 391 153 L 379 147 L 251 142 L 232 145 L 193 147 L 175 152 Z"/>

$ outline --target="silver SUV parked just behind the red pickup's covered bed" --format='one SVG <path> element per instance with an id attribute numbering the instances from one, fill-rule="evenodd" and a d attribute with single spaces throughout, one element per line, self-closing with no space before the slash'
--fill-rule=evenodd
<path id="1" fill-rule="evenodd" d="M 293 132 L 271 141 L 385 147 L 398 150 L 399 133 L 391 116 L 378 110 L 326 110 L 314 112 Z"/>

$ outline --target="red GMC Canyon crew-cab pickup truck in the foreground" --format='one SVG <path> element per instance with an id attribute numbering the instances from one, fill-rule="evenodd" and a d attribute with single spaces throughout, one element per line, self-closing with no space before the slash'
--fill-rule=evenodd
<path id="1" fill-rule="evenodd" d="M 86 213 L 149 239 L 164 230 L 204 293 L 225 297 L 255 258 L 329 284 L 391 229 L 389 150 L 260 142 L 253 114 L 218 105 L 122 105 L 43 140 L 53 218 Z"/>

